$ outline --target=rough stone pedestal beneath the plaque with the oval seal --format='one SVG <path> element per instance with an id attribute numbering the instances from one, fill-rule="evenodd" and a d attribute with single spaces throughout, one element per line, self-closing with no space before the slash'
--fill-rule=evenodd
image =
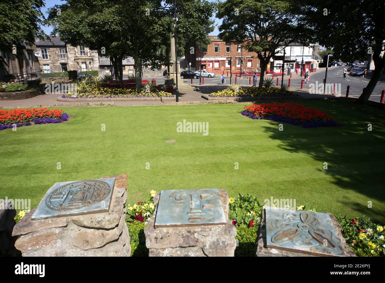
<path id="1" fill-rule="evenodd" d="M 130 256 L 126 224 L 127 175 L 115 177 L 109 212 L 32 220 L 33 209 L 13 228 L 23 256 Z"/>

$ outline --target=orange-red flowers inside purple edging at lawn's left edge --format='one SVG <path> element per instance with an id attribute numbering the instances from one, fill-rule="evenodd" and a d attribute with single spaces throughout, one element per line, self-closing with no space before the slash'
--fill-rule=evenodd
<path id="1" fill-rule="evenodd" d="M 0 124 L 15 124 L 33 121 L 33 119 L 60 119 L 63 110 L 47 108 L 0 110 Z"/>

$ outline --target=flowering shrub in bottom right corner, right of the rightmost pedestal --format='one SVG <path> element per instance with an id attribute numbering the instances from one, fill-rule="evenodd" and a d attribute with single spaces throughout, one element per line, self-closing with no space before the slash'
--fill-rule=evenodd
<path id="1" fill-rule="evenodd" d="M 370 218 L 358 217 L 347 219 L 346 216 L 336 216 L 341 224 L 341 233 L 346 244 L 357 256 L 384 256 L 385 231 L 383 226 L 370 221 Z"/>

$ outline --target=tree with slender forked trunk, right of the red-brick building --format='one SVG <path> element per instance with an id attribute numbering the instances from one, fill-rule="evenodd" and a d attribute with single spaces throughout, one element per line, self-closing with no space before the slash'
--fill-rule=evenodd
<path id="1" fill-rule="evenodd" d="M 308 45 L 310 35 L 296 17 L 291 0 L 226 0 L 218 4 L 219 37 L 256 52 L 261 67 L 259 87 L 271 57 L 293 43 Z M 246 44 L 244 44 L 246 40 Z"/>

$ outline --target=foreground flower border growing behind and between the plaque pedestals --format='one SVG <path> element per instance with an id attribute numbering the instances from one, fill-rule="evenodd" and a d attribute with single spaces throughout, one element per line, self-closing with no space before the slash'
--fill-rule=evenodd
<path id="1" fill-rule="evenodd" d="M 149 217 L 154 213 L 155 193 L 152 190 L 147 201 L 139 201 L 133 206 L 127 206 L 126 223 L 130 232 L 131 256 L 148 256 L 143 229 L 146 228 Z M 235 256 L 255 256 L 254 245 L 263 207 L 264 204 L 259 203 L 256 197 L 248 194 L 229 198 L 229 221 L 237 229 L 236 239 L 239 242 Z M 297 206 L 296 209 L 316 212 L 316 209 L 306 209 L 303 205 Z M 342 227 L 341 233 L 346 239 L 346 244 L 357 256 L 384 256 L 383 226 L 367 218 L 347 219 L 346 216 L 341 215 L 335 218 Z"/>

